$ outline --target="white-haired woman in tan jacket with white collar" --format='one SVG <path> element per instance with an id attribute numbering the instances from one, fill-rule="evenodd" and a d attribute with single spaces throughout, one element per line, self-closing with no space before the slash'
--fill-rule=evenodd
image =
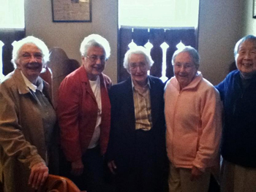
<path id="1" fill-rule="evenodd" d="M 56 113 L 39 74 L 48 47 L 36 37 L 15 43 L 14 72 L 0 85 L 0 161 L 4 191 L 35 191 L 48 177 Z"/>

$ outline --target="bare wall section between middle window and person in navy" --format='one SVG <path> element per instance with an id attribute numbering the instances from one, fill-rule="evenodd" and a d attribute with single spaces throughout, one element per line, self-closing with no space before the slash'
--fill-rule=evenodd
<path id="1" fill-rule="evenodd" d="M 201 0 L 198 50 L 203 77 L 217 85 L 234 61 L 233 48 L 242 37 L 243 1 Z"/>

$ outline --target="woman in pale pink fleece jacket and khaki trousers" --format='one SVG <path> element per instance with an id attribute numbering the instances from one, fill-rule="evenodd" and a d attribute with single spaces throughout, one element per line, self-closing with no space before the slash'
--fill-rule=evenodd
<path id="1" fill-rule="evenodd" d="M 173 54 L 175 77 L 165 89 L 169 191 L 208 191 L 221 137 L 219 93 L 198 72 L 199 55 L 190 46 Z"/>

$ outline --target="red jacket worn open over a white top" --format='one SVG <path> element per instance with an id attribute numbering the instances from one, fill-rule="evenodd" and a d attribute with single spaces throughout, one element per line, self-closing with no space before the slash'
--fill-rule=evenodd
<path id="1" fill-rule="evenodd" d="M 108 89 L 111 80 L 105 74 L 100 74 L 99 80 L 102 99 L 99 145 L 103 155 L 108 147 L 110 132 Z M 97 111 L 97 101 L 91 91 L 86 69 L 81 66 L 65 77 L 59 87 L 57 115 L 61 128 L 61 146 L 67 161 L 78 161 L 86 152 L 96 126 Z"/>

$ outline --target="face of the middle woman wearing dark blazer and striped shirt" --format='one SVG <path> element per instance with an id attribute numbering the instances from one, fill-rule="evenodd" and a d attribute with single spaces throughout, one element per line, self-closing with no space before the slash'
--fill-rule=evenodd
<path id="1" fill-rule="evenodd" d="M 135 85 L 145 85 L 148 77 L 148 70 L 150 67 L 146 62 L 146 58 L 143 54 L 131 54 L 128 60 L 129 70 L 132 80 Z"/>

